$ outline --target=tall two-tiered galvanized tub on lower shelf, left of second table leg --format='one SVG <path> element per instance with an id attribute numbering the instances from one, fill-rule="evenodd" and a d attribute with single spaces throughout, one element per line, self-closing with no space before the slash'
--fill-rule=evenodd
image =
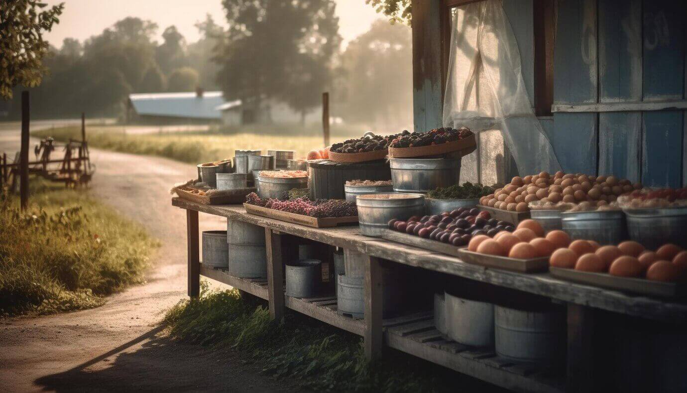
<path id="1" fill-rule="evenodd" d="M 241 278 L 267 277 L 267 250 L 264 228 L 237 220 L 227 220 L 228 273 Z"/>

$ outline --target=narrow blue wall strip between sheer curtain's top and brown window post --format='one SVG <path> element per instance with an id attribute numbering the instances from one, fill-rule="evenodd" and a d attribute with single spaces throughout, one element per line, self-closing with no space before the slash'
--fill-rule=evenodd
<path id="1" fill-rule="evenodd" d="M 520 51 L 522 79 L 530 106 L 534 106 L 534 14 L 532 0 L 503 0 Z"/>

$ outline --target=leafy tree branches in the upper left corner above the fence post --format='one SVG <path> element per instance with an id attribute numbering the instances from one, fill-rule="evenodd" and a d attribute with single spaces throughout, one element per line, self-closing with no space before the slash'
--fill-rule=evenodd
<path id="1" fill-rule="evenodd" d="M 49 45 L 43 32 L 59 23 L 64 3 L 43 10 L 47 4 L 38 0 L 0 1 L 0 96 L 12 98 L 16 85 L 41 84 L 46 69 L 43 57 Z"/>

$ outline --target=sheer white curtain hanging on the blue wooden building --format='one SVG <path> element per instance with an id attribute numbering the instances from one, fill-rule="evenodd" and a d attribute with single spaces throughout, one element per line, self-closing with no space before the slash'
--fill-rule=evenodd
<path id="1" fill-rule="evenodd" d="M 477 136 L 500 131 L 520 175 L 561 169 L 530 107 L 517 41 L 500 0 L 455 10 L 449 59 L 444 126 L 468 126 Z M 476 179 L 477 157 L 477 151 L 463 157 L 461 179 Z M 480 161 L 484 165 L 484 158 Z"/>

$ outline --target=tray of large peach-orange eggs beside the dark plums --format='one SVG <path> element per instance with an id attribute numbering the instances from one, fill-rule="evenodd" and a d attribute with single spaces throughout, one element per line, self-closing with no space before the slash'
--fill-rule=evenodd
<path id="1" fill-rule="evenodd" d="M 558 248 L 567 247 L 570 236 L 554 230 L 544 234 L 537 221 L 521 221 L 515 231 L 474 236 L 467 249 L 458 249 L 458 256 L 467 263 L 496 269 L 534 273 L 547 271 L 549 257 Z"/>

